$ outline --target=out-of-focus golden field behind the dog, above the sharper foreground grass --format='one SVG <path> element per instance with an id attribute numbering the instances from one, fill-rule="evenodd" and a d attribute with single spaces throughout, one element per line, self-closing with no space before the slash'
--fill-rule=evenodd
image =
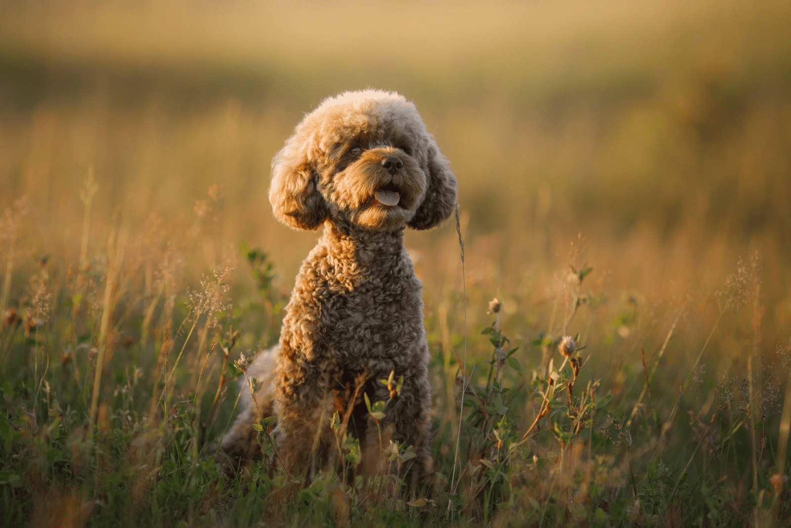
<path id="1" fill-rule="evenodd" d="M 93 166 L 89 251 L 124 221 L 210 210 L 194 277 L 245 241 L 287 295 L 318 235 L 272 217 L 271 158 L 324 97 L 370 86 L 413 100 L 452 162 L 471 329 L 495 295 L 512 338 L 552 329 L 567 266 L 587 264 L 610 308 L 573 331 L 634 354 L 638 307 L 672 305 L 653 350 L 676 307 L 716 316 L 758 251 L 771 348 L 791 333 L 789 21 L 782 1 L 6 2 L 0 209 L 28 196 L 32 241 L 15 270 L 77 260 Z M 454 221 L 407 235 L 430 337 L 454 345 L 457 239 Z M 710 328 L 693 316 L 681 362 Z M 744 356 L 729 336 L 710 371 Z"/>

